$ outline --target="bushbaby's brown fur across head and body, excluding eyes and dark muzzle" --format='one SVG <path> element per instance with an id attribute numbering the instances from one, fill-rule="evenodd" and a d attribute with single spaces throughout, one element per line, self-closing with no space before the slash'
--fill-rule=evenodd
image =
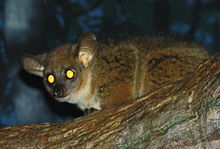
<path id="1" fill-rule="evenodd" d="M 34 62 L 32 57 L 23 57 L 22 64 L 28 72 L 39 76 L 44 68 L 44 78 L 54 73 L 58 82 L 64 84 L 65 93 L 70 94 L 60 101 L 76 103 L 83 110 L 100 110 L 181 80 L 207 58 L 203 47 L 180 40 L 142 36 L 96 41 L 94 34 L 85 33 L 76 44 L 61 45 L 33 58 Z M 41 69 L 37 69 L 39 64 Z M 37 70 L 34 66 L 38 66 Z M 63 77 L 66 67 L 78 75 L 74 85 Z M 49 92 L 53 91 L 45 85 Z"/>

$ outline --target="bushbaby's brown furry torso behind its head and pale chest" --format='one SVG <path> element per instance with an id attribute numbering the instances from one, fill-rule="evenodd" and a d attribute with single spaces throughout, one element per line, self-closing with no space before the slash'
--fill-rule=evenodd
<path id="1" fill-rule="evenodd" d="M 196 44 L 163 37 L 137 37 L 118 43 L 109 40 L 98 48 L 92 78 L 103 108 L 181 80 L 208 57 Z"/>

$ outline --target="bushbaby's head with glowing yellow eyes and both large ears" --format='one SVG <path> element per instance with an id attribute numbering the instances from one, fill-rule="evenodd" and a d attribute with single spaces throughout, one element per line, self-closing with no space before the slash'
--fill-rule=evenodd
<path id="1" fill-rule="evenodd" d="M 27 72 L 43 77 L 55 99 L 68 102 L 86 85 L 96 45 L 95 35 L 84 33 L 75 44 L 64 44 L 37 56 L 22 55 L 20 60 Z"/>

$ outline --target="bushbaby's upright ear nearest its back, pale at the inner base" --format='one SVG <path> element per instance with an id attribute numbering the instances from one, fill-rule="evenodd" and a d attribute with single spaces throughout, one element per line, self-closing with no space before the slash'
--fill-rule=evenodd
<path id="1" fill-rule="evenodd" d="M 95 34 L 86 32 L 80 36 L 76 47 L 76 56 L 78 61 L 81 62 L 84 67 L 88 67 L 89 64 L 91 64 L 95 55 L 96 46 L 97 41 Z"/>

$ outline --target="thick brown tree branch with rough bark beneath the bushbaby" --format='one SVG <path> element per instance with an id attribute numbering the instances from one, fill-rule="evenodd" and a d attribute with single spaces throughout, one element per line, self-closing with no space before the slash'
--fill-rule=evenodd
<path id="1" fill-rule="evenodd" d="M 220 55 L 121 107 L 0 129 L 0 148 L 219 148 Z"/>

